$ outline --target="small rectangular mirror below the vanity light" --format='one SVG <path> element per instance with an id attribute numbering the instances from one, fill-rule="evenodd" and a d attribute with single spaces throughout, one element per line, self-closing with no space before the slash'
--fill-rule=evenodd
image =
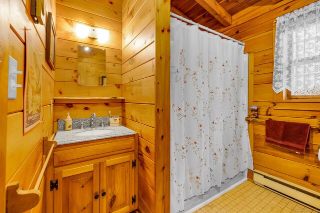
<path id="1" fill-rule="evenodd" d="M 105 86 L 105 49 L 78 45 L 78 85 Z"/>

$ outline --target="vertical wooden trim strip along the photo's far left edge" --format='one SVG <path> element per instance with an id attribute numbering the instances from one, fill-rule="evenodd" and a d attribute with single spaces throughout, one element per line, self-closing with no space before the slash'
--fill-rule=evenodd
<path id="1" fill-rule="evenodd" d="M 6 112 L 8 97 L 8 50 L 9 50 L 9 0 L 2 0 L 0 6 L 0 212 L 6 209 L 5 164 L 6 164 Z"/>

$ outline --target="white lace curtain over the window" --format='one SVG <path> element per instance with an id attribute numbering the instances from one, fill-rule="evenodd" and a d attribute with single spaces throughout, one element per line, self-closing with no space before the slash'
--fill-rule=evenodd
<path id="1" fill-rule="evenodd" d="M 320 1 L 276 18 L 273 90 L 320 94 Z"/>

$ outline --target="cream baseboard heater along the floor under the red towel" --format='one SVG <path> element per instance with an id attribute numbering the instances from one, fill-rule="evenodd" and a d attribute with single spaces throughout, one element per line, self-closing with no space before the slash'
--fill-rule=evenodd
<path id="1" fill-rule="evenodd" d="M 320 210 L 320 193 L 318 192 L 258 170 L 253 170 L 253 181 L 255 184 L 281 194 L 297 203 L 307 205 L 316 211 Z"/>

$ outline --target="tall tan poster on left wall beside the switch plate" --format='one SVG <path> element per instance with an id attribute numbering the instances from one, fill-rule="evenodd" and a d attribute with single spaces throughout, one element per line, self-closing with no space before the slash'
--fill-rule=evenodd
<path id="1" fill-rule="evenodd" d="M 26 63 L 23 93 L 23 134 L 40 123 L 42 105 L 41 53 L 26 33 Z"/>

